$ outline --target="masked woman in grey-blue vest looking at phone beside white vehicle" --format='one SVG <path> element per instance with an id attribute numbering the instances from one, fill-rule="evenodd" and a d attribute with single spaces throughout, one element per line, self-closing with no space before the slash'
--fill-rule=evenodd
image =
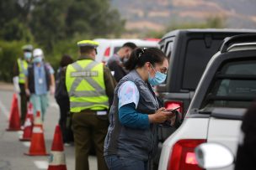
<path id="1" fill-rule="evenodd" d="M 138 48 L 125 68 L 131 72 L 115 87 L 104 157 L 110 170 L 147 170 L 157 151 L 157 123 L 173 117 L 152 90 L 166 79 L 168 59 L 160 49 Z"/>

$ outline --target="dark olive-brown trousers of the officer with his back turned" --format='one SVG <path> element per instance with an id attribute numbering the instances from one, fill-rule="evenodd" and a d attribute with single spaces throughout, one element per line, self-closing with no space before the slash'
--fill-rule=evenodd
<path id="1" fill-rule="evenodd" d="M 107 170 L 104 161 L 104 138 L 108 132 L 107 115 L 98 116 L 97 111 L 84 110 L 72 113 L 72 128 L 76 148 L 76 170 L 88 170 L 88 155 L 92 143 L 95 146 L 98 169 Z"/>

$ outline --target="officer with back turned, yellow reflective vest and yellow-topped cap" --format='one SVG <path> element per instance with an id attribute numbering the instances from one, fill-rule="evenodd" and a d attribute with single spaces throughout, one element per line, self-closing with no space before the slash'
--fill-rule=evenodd
<path id="1" fill-rule="evenodd" d="M 109 104 L 112 104 L 115 79 L 104 64 L 96 62 L 98 43 L 77 43 L 79 59 L 67 65 L 66 86 L 72 113 L 76 170 L 88 170 L 90 147 L 95 147 L 98 169 L 108 169 L 104 161 L 104 138 L 108 131 Z"/>

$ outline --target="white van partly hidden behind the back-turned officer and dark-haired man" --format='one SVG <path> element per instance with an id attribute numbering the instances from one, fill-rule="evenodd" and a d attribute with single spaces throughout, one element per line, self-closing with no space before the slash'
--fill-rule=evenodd
<path id="1" fill-rule="evenodd" d="M 99 43 L 96 61 L 106 63 L 113 54 L 115 54 L 123 44 L 131 42 L 138 47 L 156 47 L 158 48 L 159 39 L 93 39 Z"/>

